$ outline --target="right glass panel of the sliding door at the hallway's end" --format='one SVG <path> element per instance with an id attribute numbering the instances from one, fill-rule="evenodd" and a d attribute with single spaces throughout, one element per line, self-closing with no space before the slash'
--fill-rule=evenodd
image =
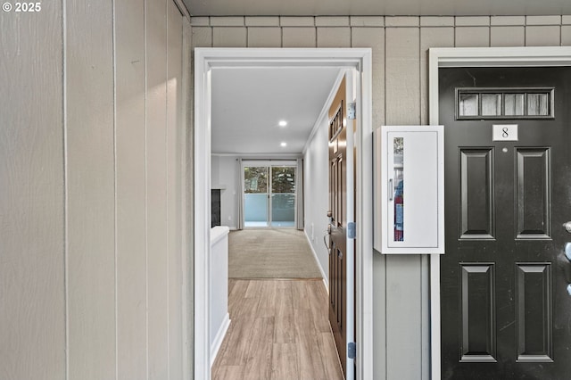
<path id="1" fill-rule="evenodd" d="M 295 167 L 271 167 L 271 226 L 295 226 Z"/>

